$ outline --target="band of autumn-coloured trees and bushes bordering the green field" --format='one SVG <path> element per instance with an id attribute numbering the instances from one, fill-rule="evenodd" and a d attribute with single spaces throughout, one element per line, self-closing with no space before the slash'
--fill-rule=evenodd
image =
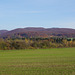
<path id="1" fill-rule="evenodd" d="M 75 47 L 73 38 L 0 38 L 0 50 Z"/>

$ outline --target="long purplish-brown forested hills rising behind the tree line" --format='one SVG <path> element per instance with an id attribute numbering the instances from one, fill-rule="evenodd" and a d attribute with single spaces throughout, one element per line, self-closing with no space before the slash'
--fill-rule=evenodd
<path id="1" fill-rule="evenodd" d="M 25 38 L 25 37 L 75 37 L 75 29 L 69 28 L 18 28 L 11 31 L 0 30 L 1 38 Z"/>

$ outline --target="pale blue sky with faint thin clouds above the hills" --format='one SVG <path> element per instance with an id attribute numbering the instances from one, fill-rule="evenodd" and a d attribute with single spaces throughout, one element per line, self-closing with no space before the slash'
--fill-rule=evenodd
<path id="1" fill-rule="evenodd" d="M 0 30 L 75 29 L 75 0 L 0 0 Z"/>

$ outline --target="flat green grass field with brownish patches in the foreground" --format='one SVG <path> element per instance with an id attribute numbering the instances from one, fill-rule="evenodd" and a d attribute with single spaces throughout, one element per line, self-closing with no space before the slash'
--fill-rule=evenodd
<path id="1" fill-rule="evenodd" d="M 75 48 L 1 50 L 0 75 L 75 75 Z"/>

